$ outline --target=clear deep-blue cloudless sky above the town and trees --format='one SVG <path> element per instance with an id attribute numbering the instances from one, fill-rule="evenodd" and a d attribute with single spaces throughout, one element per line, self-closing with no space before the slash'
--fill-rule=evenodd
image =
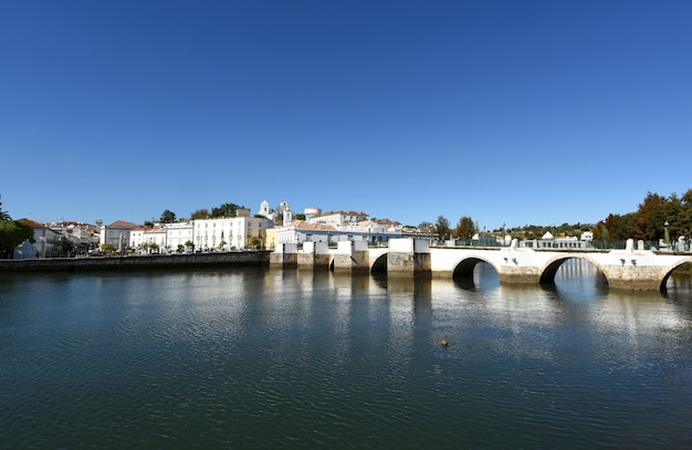
<path id="1" fill-rule="evenodd" d="M 590 223 L 692 188 L 690 1 L 0 3 L 13 218 Z"/>

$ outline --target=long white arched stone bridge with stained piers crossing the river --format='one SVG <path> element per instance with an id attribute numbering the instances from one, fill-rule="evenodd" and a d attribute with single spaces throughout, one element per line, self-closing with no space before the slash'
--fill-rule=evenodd
<path id="1" fill-rule="evenodd" d="M 501 283 L 552 283 L 560 264 L 568 259 L 586 260 L 606 278 L 611 289 L 663 290 L 671 272 L 691 255 L 652 252 L 630 239 L 625 250 L 518 248 L 431 248 L 427 240 L 392 239 L 388 247 L 368 248 L 367 242 L 344 241 L 336 249 L 326 242 L 280 244 L 271 254 L 273 266 L 331 269 L 340 272 L 386 272 L 394 278 L 462 278 L 473 273 L 479 262 L 490 264 Z"/>

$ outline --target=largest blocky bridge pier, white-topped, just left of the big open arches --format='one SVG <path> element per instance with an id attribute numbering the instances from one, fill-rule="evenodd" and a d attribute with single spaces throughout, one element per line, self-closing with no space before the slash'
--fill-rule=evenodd
<path id="1" fill-rule="evenodd" d="M 432 278 L 430 243 L 424 239 L 390 239 L 387 276 Z"/>

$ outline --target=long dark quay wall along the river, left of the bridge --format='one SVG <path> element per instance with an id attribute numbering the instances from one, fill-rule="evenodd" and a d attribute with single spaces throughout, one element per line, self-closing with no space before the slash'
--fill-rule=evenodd
<path id="1" fill-rule="evenodd" d="M 176 268 L 269 265 L 269 251 L 195 253 L 146 257 L 51 258 L 0 260 L 0 272 L 155 270 Z"/>

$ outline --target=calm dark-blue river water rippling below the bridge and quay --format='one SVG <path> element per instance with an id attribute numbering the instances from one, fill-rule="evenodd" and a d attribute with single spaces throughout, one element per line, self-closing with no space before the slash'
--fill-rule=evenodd
<path id="1" fill-rule="evenodd" d="M 690 446 L 688 279 L 0 276 L 0 448 Z"/>

